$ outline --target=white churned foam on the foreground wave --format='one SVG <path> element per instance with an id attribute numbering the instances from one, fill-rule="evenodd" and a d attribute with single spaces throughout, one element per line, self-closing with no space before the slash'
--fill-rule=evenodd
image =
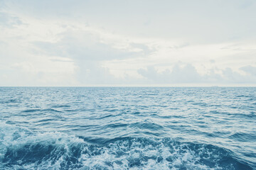
<path id="1" fill-rule="evenodd" d="M 213 151 L 203 145 L 198 152 L 189 149 L 189 144 L 174 142 L 172 140 L 157 140 L 146 138 L 124 138 L 100 147 L 88 145 L 78 137 L 65 135 L 60 132 L 32 132 L 31 130 L 18 128 L 14 125 L 0 123 L 0 153 L 4 158 L 7 149 L 14 151 L 22 149 L 25 145 L 33 146 L 41 144 L 53 146 L 53 152 L 58 155 L 54 162 L 48 158 L 41 163 L 30 162 L 19 165 L 12 164 L 10 169 L 62 169 L 67 159 L 72 157 L 73 148 L 79 149 L 77 162 L 67 166 L 73 169 L 178 169 L 182 166 L 188 169 L 216 169 L 199 163 L 201 157 L 218 160 L 219 155 L 212 155 Z M 64 152 L 61 152 L 62 149 Z M 28 151 L 29 152 L 29 151 Z M 204 156 L 202 156 L 204 155 Z M 38 160 L 39 161 L 39 160 Z M 215 160 L 211 160 L 215 161 Z M 1 168 L 1 166 L 0 166 Z M 6 168 L 6 167 L 5 167 Z"/>

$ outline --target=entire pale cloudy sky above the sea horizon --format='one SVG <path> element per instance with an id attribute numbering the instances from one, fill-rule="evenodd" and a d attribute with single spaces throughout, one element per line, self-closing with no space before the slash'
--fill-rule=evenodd
<path id="1" fill-rule="evenodd" d="M 0 0 L 0 86 L 255 86 L 254 0 Z"/>

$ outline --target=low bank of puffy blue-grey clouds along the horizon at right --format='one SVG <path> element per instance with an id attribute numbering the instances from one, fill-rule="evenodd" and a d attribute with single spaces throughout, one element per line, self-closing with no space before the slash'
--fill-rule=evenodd
<path id="1" fill-rule="evenodd" d="M 216 69 L 216 68 L 215 68 Z M 173 69 L 157 72 L 153 66 L 138 69 L 138 73 L 153 84 L 254 84 L 256 83 L 256 67 L 242 67 L 250 75 L 242 75 L 233 69 L 211 69 L 206 74 L 198 74 L 192 64 L 176 63 Z"/>

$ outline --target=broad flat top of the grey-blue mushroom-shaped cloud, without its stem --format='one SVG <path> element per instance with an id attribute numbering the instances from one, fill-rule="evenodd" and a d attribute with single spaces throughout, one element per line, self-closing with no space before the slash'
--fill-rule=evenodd
<path id="1" fill-rule="evenodd" d="M 67 30 L 58 35 L 58 42 L 33 42 L 38 52 L 46 55 L 70 57 L 73 60 L 122 60 L 124 58 L 142 57 L 150 50 L 144 44 L 134 42 L 115 42 L 113 38 L 104 38 L 100 33 L 88 30 Z M 121 46 L 122 45 L 122 46 Z"/>

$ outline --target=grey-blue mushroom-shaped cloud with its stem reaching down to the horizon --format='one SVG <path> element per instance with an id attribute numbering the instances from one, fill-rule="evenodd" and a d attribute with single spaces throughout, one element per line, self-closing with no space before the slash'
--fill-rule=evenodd
<path id="1" fill-rule="evenodd" d="M 43 54 L 52 61 L 72 61 L 76 69 L 76 78 L 80 84 L 131 84 L 128 74 L 115 77 L 102 62 L 146 57 L 153 50 L 143 43 L 116 40 L 116 37 L 95 30 L 66 30 L 58 35 L 57 42 L 31 42 L 34 54 Z M 120 39 L 120 38 L 119 38 Z M 122 39 L 122 38 L 121 38 Z M 56 57 L 57 56 L 57 57 Z"/>

